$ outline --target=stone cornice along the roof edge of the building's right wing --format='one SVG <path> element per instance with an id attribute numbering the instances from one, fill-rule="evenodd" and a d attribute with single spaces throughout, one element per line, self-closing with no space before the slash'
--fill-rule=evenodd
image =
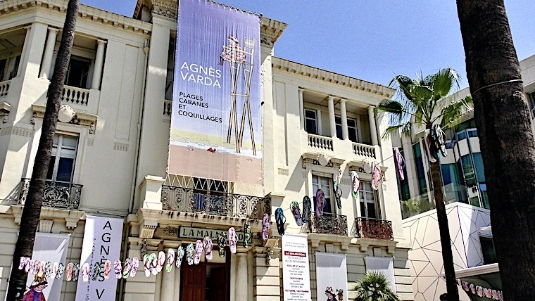
<path id="1" fill-rule="evenodd" d="M 284 60 L 283 58 L 272 57 L 273 69 L 294 73 L 296 75 L 302 75 L 304 77 L 310 77 L 318 79 L 322 82 L 328 82 L 332 84 L 338 84 L 343 87 L 365 91 L 367 93 L 376 94 L 383 98 L 391 98 L 394 96 L 396 90 L 389 87 L 385 87 L 382 84 L 374 84 L 372 82 L 365 82 L 361 79 L 354 77 L 348 77 L 346 75 L 340 75 L 335 72 L 322 70 L 320 68 L 310 67 L 300 63 L 292 62 L 291 60 Z"/>

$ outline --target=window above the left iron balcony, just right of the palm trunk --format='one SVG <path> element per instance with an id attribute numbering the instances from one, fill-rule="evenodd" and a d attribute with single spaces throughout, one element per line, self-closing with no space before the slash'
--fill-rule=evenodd
<path id="1" fill-rule="evenodd" d="M 73 181 L 77 146 L 77 136 L 54 135 L 52 157 L 46 179 L 63 182 Z"/>

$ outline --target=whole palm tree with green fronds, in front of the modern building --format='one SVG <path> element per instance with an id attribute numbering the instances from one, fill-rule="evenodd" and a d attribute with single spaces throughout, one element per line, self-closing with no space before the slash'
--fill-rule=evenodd
<path id="1" fill-rule="evenodd" d="M 444 101 L 444 98 L 451 94 L 454 86 L 458 88 L 458 81 L 457 72 L 451 68 L 444 68 L 432 75 L 420 76 L 417 79 L 396 75 L 390 85 L 397 87 L 398 98 L 385 99 L 376 108 L 376 111 L 386 112 L 390 115 L 390 126 L 384 135 L 388 136 L 400 131 L 403 134 L 410 134 L 414 126 L 424 127 L 428 131 L 431 131 L 435 125 L 453 126 L 459 121 L 460 115 L 471 108 L 472 103 L 470 96 L 450 103 Z M 446 290 L 448 300 L 458 301 L 459 293 L 455 281 L 440 162 L 438 160 L 430 161 L 434 203 L 439 222 L 442 260 L 446 275 Z"/>

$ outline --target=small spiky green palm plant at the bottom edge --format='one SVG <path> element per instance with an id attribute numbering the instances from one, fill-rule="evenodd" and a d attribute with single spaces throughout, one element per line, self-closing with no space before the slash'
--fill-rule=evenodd
<path id="1" fill-rule="evenodd" d="M 355 286 L 355 301 L 401 301 L 392 291 L 386 276 L 379 271 L 366 272 Z"/>

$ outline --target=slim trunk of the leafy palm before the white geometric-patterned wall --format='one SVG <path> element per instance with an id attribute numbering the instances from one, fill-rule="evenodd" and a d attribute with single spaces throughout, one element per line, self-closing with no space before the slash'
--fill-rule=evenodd
<path id="1" fill-rule="evenodd" d="M 436 219 L 439 222 L 440 244 L 442 248 L 442 261 L 444 263 L 444 274 L 446 276 L 446 292 L 448 301 L 459 301 L 459 290 L 455 279 L 455 267 L 453 267 L 453 253 L 451 251 L 450 226 L 448 224 L 448 214 L 446 204 L 444 204 L 444 190 L 440 162 L 430 162 L 431 179 L 433 184 L 433 196 L 436 205 Z"/>

